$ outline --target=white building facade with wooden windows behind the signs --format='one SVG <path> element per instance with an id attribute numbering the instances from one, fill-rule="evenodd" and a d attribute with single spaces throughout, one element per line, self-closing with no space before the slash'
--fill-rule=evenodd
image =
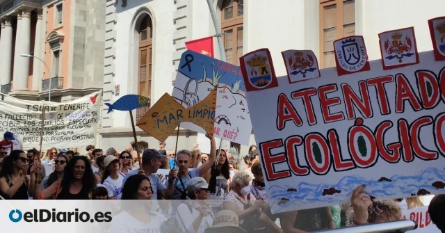
<path id="1" fill-rule="evenodd" d="M 225 58 L 238 58 L 268 48 L 277 76 L 286 74 L 281 51 L 310 49 L 321 68 L 335 65 L 332 42 L 363 35 L 369 60 L 380 59 L 378 33 L 414 26 L 419 51 L 432 49 L 427 20 L 445 15 L 445 1 L 416 0 L 213 0 L 223 32 Z M 108 0 L 104 102 L 127 94 L 149 97 L 152 104 L 172 93 L 185 42 L 215 35 L 207 1 Z M 215 42 L 216 58 L 220 51 Z M 104 107 L 100 147 L 124 148 L 133 142 L 129 113 Z M 140 118 L 143 111 L 133 115 Z M 143 146 L 157 148 L 157 140 L 136 129 Z M 195 143 L 196 133 L 181 129 L 179 149 Z M 176 135 L 167 143 L 174 148 Z M 250 143 L 254 144 L 253 135 Z M 169 146 L 168 146 L 169 147 Z M 241 147 L 246 154 L 248 147 Z"/>

